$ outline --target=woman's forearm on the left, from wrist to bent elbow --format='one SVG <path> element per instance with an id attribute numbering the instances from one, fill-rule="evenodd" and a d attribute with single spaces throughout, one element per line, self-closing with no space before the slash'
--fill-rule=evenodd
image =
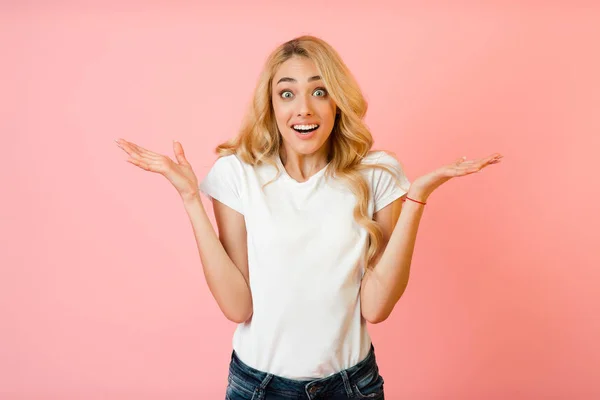
<path id="1" fill-rule="evenodd" d="M 200 193 L 182 196 L 182 199 L 213 297 L 227 319 L 237 323 L 246 321 L 252 315 L 252 295 L 244 275 L 221 244 L 202 205 Z"/>

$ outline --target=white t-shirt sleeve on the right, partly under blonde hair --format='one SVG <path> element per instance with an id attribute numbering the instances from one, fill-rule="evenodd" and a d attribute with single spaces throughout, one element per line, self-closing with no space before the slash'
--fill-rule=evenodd
<path id="1" fill-rule="evenodd" d="M 404 173 L 402 165 L 393 156 L 381 152 L 381 156 L 376 161 L 377 164 L 384 164 L 392 167 L 396 179 L 387 171 L 383 169 L 375 170 L 375 179 L 373 182 L 373 212 L 381 210 L 394 200 L 399 199 L 408 193 L 410 188 L 410 181 Z"/>

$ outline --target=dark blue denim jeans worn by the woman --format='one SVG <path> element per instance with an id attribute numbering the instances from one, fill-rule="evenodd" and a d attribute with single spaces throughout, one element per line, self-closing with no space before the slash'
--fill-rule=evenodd
<path id="1" fill-rule="evenodd" d="M 353 367 L 326 378 L 294 380 L 254 369 L 231 354 L 226 400 L 384 400 L 375 348 Z"/>

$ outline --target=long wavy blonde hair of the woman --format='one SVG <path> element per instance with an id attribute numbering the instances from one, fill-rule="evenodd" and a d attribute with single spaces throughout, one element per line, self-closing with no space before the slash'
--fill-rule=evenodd
<path id="1" fill-rule="evenodd" d="M 367 102 L 350 70 L 331 45 L 317 37 L 304 35 L 278 46 L 266 60 L 239 134 L 217 146 L 215 151 L 220 157 L 235 154 L 245 163 L 267 163 L 278 169 L 275 157 L 279 157 L 283 138 L 275 120 L 271 86 L 281 64 L 294 56 L 307 57 L 315 63 L 325 88 L 338 107 L 338 115 L 329 136 L 329 165 L 325 174 L 344 180 L 355 194 L 354 219 L 368 233 L 365 266 L 372 268 L 380 255 L 383 234 L 379 225 L 369 218 L 370 191 L 361 171 L 384 169 L 399 181 L 388 165 L 362 163 L 365 156 L 374 151 L 371 150 L 371 132 L 363 122 Z"/>

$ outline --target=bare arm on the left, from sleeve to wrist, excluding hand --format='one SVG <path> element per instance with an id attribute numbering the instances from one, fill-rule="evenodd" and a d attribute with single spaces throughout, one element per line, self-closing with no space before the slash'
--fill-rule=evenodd
<path id="1" fill-rule="evenodd" d="M 182 196 L 196 238 L 206 283 L 230 321 L 242 323 L 252 315 L 248 251 L 244 216 L 213 200 L 219 237 L 208 219 L 200 193 Z"/>

